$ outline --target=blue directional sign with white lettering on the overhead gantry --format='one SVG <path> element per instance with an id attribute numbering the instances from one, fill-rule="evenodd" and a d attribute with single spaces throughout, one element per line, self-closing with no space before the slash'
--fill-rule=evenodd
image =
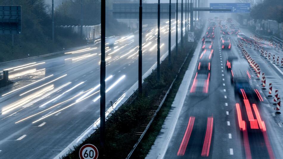
<path id="1" fill-rule="evenodd" d="M 231 9 L 231 11 L 210 11 L 210 13 L 250 13 L 251 3 L 210 3 L 210 9 Z"/>

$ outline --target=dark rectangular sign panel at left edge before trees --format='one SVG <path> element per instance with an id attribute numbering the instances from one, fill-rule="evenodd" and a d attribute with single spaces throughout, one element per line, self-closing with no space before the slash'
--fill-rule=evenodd
<path id="1" fill-rule="evenodd" d="M 0 34 L 21 34 L 21 6 L 0 6 Z"/>

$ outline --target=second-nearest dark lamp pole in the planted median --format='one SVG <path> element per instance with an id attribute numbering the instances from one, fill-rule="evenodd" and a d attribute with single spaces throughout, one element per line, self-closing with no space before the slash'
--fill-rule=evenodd
<path id="1" fill-rule="evenodd" d="M 139 0 L 139 95 L 142 93 L 142 0 Z"/>

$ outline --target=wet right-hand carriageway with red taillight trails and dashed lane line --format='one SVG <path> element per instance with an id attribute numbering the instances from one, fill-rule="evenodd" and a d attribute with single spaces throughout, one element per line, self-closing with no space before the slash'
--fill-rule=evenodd
<path id="1" fill-rule="evenodd" d="M 235 21 L 233 23 L 237 24 Z M 206 29 L 207 27 L 205 27 L 204 33 L 206 33 Z M 246 28 L 240 27 L 240 29 L 241 33 L 245 34 L 245 38 L 253 35 Z M 179 88 L 180 92 L 185 93 L 184 104 L 180 108 L 172 108 L 173 113 L 170 113 L 168 119 L 165 120 L 161 133 L 147 155 L 147 159 L 282 158 L 282 123 L 279 123 L 282 121 L 282 117 L 275 114 L 275 106 L 272 105 L 273 98 L 267 97 L 268 91 L 261 89 L 261 82 L 257 80 L 252 68 L 248 68 L 244 72 L 247 71 L 247 74 L 251 76 L 250 85 L 254 91 L 258 91 L 258 96 L 256 98 L 248 96 L 246 99 L 248 102 L 244 102 L 245 97 L 242 94 L 235 95 L 234 85 L 231 82 L 232 75 L 230 70 L 227 70 L 226 63 L 228 57 L 237 57 L 239 62 L 248 64 L 241 49 L 237 47 L 238 40 L 242 40 L 237 35 L 230 35 L 231 50 L 221 49 L 220 38 L 222 34 L 220 34 L 218 24 L 214 33 L 215 39 L 212 46 L 214 55 L 208 77 L 210 79 L 208 80 L 208 93 L 198 92 L 198 88 L 195 88 L 198 85 L 206 84 L 201 83 L 202 81 L 198 77 L 201 65 L 198 65 L 197 62 L 192 76 L 189 77 L 191 78 L 189 89 Z M 201 40 L 198 43 L 202 43 Z M 261 46 L 268 52 L 282 54 L 281 50 L 278 51 L 272 46 Z M 275 83 L 276 89 L 282 90 L 283 74 L 281 72 L 283 69 L 261 57 L 254 50 L 254 44 L 251 48 L 249 45 L 244 48 L 259 63 L 268 82 Z M 204 57 L 201 49 L 196 49 L 194 56 L 197 56 L 198 59 Z M 196 92 L 198 93 L 196 94 Z M 173 105 L 174 103 L 182 103 L 179 100 L 181 101 L 176 97 Z M 176 118 L 177 120 L 174 121 L 173 119 Z M 244 126 L 243 121 L 245 121 Z M 253 124 L 254 121 L 255 124 Z"/>

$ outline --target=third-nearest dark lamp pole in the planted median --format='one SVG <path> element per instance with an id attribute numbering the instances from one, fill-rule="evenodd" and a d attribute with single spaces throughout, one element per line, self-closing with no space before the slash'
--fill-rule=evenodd
<path id="1" fill-rule="evenodd" d="M 160 0 L 158 0 L 158 13 L 157 13 L 157 81 L 160 80 Z"/>

